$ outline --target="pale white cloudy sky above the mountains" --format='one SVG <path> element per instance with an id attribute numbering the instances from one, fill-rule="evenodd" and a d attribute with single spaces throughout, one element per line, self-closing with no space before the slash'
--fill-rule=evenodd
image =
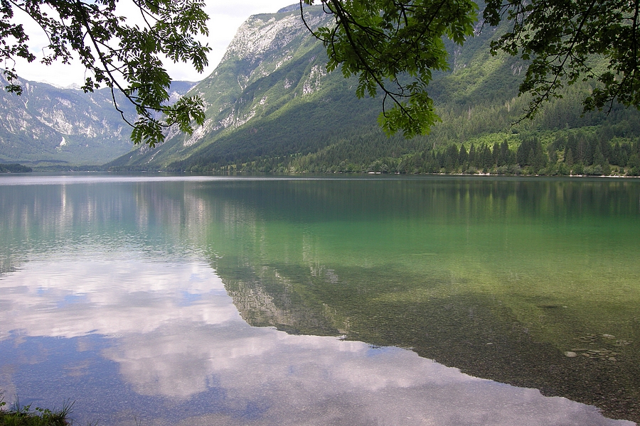
<path id="1" fill-rule="evenodd" d="M 284 6 L 296 3 L 295 0 L 208 0 L 205 8 L 209 15 L 207 26 L 209 37 L 202 41 L 208 43 L 212 49 L 208 55 L 209 66 L 203 73 L 199 74 L 188 64 L 174 64 L 171 61 L 165 62 L 166 70 L 174 80 L 199 81 L 210 75 L 218 66 L 218 63 L 225 54 L 227 46 L 238 31 L 238 27 L 251 15 L 257 13 L 274 13 Z M 124 13 L 126 14 L 126 13 Z M 48 82 L 60 87 L 69 87 L 74 84 L 82 85 L 85 80 L 85 69 L 80 62 L 65 65 L 55 63 L 53 65 L 43 65 L 39 62 L 42 58 L 42 48 L 46 45 L 46 38 L 36 23 L 33 23 L 28 16 L 18 17 L 30 35 L 31 51 L 38 60 L 31 62 L 16 62 L 16 70 L 20 77 L 36 81 Z M 11 65 L 11 64 L 7 64 Z"/>

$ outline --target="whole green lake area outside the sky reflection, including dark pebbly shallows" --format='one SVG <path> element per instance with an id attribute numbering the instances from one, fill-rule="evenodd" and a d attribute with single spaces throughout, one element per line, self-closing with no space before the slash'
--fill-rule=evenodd
<path id="1" fill-rule="evenodd" d="M 289 180 L 201 197 L 233 209 L 208 242 L 251 324 L 409 347 L 637 421 L 639 183 Z"/>

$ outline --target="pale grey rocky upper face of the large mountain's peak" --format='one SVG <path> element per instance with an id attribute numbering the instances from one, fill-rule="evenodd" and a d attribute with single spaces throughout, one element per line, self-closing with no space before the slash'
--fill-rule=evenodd
<path id="1" fill-rule="evenodd" d="M 317 26 L 324 18 L 318 12 L 307 13 L 309 25 Z M 185 145 L 212 132 L 238 129 L 269 114 L 279 102 L 316 92 L 319 78 L 326 75 L 318 48 L 297 13 L 251 16 L 238 29 L 220 67 L 196 87 L 208 102 L 209 119 L 198 135 L 185 138 Z M 284 80 L 278 70 L 286 71 Z"/>

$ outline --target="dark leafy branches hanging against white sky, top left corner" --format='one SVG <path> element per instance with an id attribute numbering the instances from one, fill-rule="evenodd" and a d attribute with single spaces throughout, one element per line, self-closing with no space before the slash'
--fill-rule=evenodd
<path id="1" fill-rule="evenodd" d="M 208 46 L 196 36 L 208 34 L 203 0 L 133 0 L 139 23 L 118 13 L 119 0 L 0 0 L 0 59 L 9 92 L 21 94 L 16 58 L 29 62 L 29 35 L 14 13 L 28 13 L 48 37 L 45 64 L 68 63 L 78 55 L 89 77 L 85 92 L 106 84 L 125 121 L 132 125 L 134 143 L 154 146 L 164 140 L 163 129 L 177 125 L 191 133 L 191 122 L 204 122 L 203 101 L 183 97 L 169 104 L 171 77 L 163 58 L 191 63 L 198 71 L 207 65 Z M 7 63 L 14 65 L 7 67 Z M 120 109 L 116 91 L 134 105 L 138 117 L 128 121 Z"/>

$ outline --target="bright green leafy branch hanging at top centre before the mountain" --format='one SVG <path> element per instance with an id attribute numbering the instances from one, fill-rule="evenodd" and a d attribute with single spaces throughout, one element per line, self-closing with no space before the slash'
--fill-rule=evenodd
<path id="1" fill-rule="evenodd" d="M 356 95 L 383 94 L 378 121 L 388 134 L 428 133 L 439 121 L 427 93 L 434 70 L 448 70 L 443 38 L 462 44 L 473 35 L 477 6 L 470 0 L 322 0 L 331 26 L 306 28 L 326 48 L 327 70 L 358 76 Z M 393 105 L 388 108 L 387 104 Z"/>

